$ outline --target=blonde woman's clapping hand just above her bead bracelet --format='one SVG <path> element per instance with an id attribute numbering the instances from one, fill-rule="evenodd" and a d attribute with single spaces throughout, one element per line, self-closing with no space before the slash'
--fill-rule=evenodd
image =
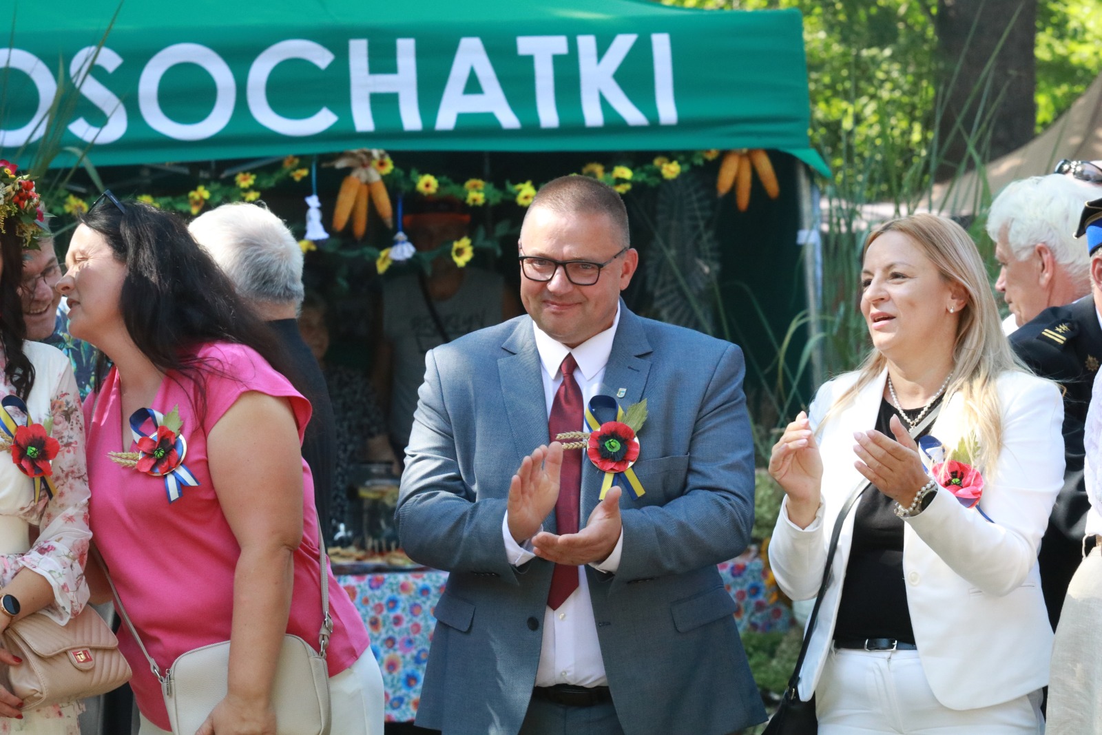
<path id="1" fill-rule="evenodd" d="M 857 440 L 853 447 L 857 462 L 853 464 L 880 493 L 906 508 L 929 477 L 922 469 L 918 444 L 903 428 L 899 417 L 893 415 L 888 425 L 895 441 L 875 429 L 853 435 Z"/>

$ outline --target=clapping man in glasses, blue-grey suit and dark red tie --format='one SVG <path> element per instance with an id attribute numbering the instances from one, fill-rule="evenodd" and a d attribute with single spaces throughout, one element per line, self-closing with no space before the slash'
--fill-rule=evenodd
<path id="1" fill-rule="evenodd" d="M 742 352 L 627 310 L 638 253 L 619 195 L 593 179 L 540 190 L 520 262 L 528 315 L 425 358 L 397 520 L 407 553 L 451 575 L 417 724 L 721 735 L 761 722 L 715 566 L 754 517 Z M 601 500 L 605 473 L 552 441 L 586 426 L 595 394 L 647 400 L 641 495 L 618 479 Z"/>

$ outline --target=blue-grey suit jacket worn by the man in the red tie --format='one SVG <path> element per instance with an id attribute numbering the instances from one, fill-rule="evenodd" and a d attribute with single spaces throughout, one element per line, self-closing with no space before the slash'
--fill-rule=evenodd
<path id="1" fill-rule="evenodd" d="M 553 565 L 509 564 L 501 536 L 521 458 L 547 444 L 532 321 L 520 316 L 429 353 L 396 514 L 414 560 L 451 572 L 435 608 L 417 723 L 515 735 L 536 682 Z M 749 541 L 754 451 L 742 350 L 620 305 L 602 392 L 648 399 L 624 488 L 615 574 L 586 568 L 601 653 L 627 735 L 720 735 L 765 720 L 715 568 Z M 581 518 L 602 473 L 583 462 Z M 544 523 L 555 529 L 554 514 Z"/>

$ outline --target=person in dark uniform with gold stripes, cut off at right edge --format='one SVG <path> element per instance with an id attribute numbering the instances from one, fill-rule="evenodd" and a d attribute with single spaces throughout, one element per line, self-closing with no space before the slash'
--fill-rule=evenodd
<path id="1" fill-rule="evenodd" d="M 1090 504 L 1083 487 L 1083 424 L 1091 388 L 1102 359 L 1102 198 L 1083 207 L 1076 237 L 1087 236 L 1091 293 L 1051 306 L 1011 335 L 1018 356 L 1037 375 L 1063 386 L 1063 489 L 1041 540 L 1041 588 L 1056 628 L 1068 583 L 1083 553 L 1083 526 Z"/>

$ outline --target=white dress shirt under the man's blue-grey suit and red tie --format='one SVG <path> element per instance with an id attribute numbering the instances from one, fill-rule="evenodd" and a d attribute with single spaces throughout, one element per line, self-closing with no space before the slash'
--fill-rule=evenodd
<path id="1" fill-rule="evenodd" d="M 617 305 L 613 325 L 573 349 L 555 342 L 538 326 L 532 325 L 536 331 L 536 348 L 540 354 L 540 364 L 543 366 L 540 374 L 543 378 L 543 397 L 547 400 L 549 418 L 555 392 L 562 385 L 560 368 L 568 353 L 572 354 L 577 363 L 574 379 L 582 390 L 582 398 L 586 404 L 595 394 L 608 392 L 602 391 L 601 386 L 618 324 L 619 306 Z M 586 431 L 588 428 L 584 425 L 584 418 L 582 423 L 583 425 L 579 429 Z M 584 455 L 582 461 L 586 461 Z M 579 529 L 585 527 L 586 520 L 579 518 Z M 505 551 L 509 555 L 510 564 L 520 566 L 536 556 L 532 553 L 530 540 L 520 545 L 509 533 L 508 512 L 506 512 L 501 523 L 501 533 L 505 537 Z M 591 566 L 602 572 L 615 573 L 619 568 L 623 548 L 624 531 L 620 530 L 620 538 L 608 559 L 599 564 L 591 564 Z M 590 586 L 585 580 L 585 570 L 581 566 L 577 568 L 577 588 L 566 597 L 565 602 L 558 609 L 548 607 L 543 610 L 543 646 L 540 649 L 540 666 L 536 671 L 537 687 L 553 687 L 555 684 L 604 687 L 608 684 L 605 664 L 601 658 L 601 644 L 597 640 L 597 624 L 593 618 Z"/>

